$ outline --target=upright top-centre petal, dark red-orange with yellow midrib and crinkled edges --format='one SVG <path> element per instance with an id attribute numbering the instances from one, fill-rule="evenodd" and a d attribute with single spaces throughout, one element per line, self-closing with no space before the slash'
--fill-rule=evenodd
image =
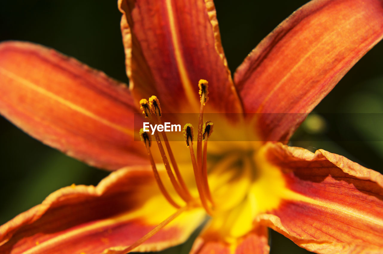
<path id="1" fill-rule="evenodd" d="M 199 112 L 198 81 L 215 112 L 241 112 L 212 0 L 119 0 L 126 72 L 136 100 L 156 95 L 164 112 Z"/>

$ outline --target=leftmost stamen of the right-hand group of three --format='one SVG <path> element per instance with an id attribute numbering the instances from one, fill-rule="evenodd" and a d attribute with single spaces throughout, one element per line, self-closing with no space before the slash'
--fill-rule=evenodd
<path id="1" fill-rule="evenodd" d="M 185 126 L 183 126 L 183 136 L 185 138 L 186 146 L 189 147 L 190 150 L 190 157 L 191 157 L 191 163 L 193 165 L 193 171 L 194 171 L 194 177 L 195 182 L 198 189 L 198 194 L 200 195 L 201 203 L 203 207 L 205 208 L 206 212 L 210 215 L 213 214 L 210 207 L 208 206 L 207 200 L 205 198 L 204 192 L 203 192 L 203 183 L 201 182 L 201 175 L 200 171 L 198 170 L 197 163 L 195 160 L 194 150 L 193 150 L 193 126 L 190 123 L 187 123 Z"/>

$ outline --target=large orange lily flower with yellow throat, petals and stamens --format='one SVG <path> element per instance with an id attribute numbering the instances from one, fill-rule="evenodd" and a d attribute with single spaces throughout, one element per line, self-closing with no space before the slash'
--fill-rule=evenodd
<path id="1" fill-rule="evenodd" d="M 381 0 L 307 3 L 250 52 L 234 80 L 212 0 L 118 6 L 129 88 L 41 45 L 0 44 L 2 115 L 114 170 L 96 187 L 59 189 L 1 226 L 1 253 L 159 251 L 206 218 L 191 253 L 268 253 L 267 227 L 317 253 L 383 252 L 383 176 L 284 144 L 382 39 Z M 134 141 L 141 112 L 151 123 L 161 113 L 197 123 L 196 141 L 191 125 L 188 147 L 163 136 L 157 149 L 159 133 Z M 233 114 L 218 114 L 213 132 L 203 112 Z M 247 142 L 232 141 L 242 134 Z"/>

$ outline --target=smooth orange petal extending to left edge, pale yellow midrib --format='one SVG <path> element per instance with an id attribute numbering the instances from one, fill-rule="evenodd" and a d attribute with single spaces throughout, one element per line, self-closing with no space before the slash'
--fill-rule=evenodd
<path id="1" fill-rule="evenodd" d="M 28 42 L 0 44 L 0 80 L 0 113 L 34 138 L 100 168 L 147 163 L 124 84 Z"/>

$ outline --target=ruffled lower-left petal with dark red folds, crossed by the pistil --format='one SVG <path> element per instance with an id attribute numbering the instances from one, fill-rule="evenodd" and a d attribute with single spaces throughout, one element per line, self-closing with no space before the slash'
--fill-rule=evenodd
<path id="1" fill-rule="evenodd" d="M 146 166 L 123 168 L 97 187 L 52 193 L 0 227 L 0 252 L 100 254 L 126 248 L 176 211 L 159 194 L 152 174 Z M 201 209 L 187 210 L 134 251 L 180 244 L 204 218 Z"/>

